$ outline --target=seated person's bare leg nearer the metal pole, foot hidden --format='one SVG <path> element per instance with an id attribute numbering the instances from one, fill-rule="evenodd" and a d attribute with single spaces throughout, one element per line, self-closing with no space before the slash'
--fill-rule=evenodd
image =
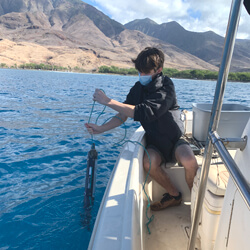
<path id="1" fill-rule="evenodd" d="M 189 145 L 182 144 L 175 150 L 176 160 L 185 168 L 186 182 L 190 188 L 193 187 L 194 177 L 198 169 L 198 163 Z"/>

